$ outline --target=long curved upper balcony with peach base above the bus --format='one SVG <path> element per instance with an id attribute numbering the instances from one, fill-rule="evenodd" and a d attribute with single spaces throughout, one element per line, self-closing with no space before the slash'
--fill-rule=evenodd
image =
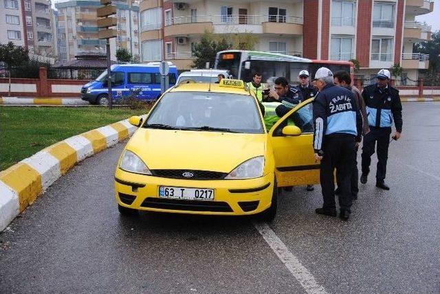
<path id="1" fill-rule="evenodd" d="M 192 15 L 165 20 L 165 36 L 203 34 L 213 30 L 217 34 L 303 34 L 303 19 L 283 15 Z"/>

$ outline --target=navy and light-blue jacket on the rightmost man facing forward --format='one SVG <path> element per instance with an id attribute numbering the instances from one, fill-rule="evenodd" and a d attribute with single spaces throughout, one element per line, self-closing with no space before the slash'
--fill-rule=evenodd
<path id="1" fill-rule="evenodd" d="M 362 91 L 362 98 L 365 102 L 369 126 L 391 128 L 394 121 L 396 131 L 401 133 L 403 121 L 399 90 L 389 85 L 385 89 L 380 89 L 377 84 L 371 84 Z"/>

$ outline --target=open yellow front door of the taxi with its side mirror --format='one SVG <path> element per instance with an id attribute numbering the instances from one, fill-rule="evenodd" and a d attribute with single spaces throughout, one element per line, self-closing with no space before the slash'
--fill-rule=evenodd
<path id="1" fill-rule="evenodd" d="M 314 133 L 311 102 L 313 100 L 314 98 L 311 98 L 298 104 L 281 117 L 269 131 L 278 187 L 320 182 L 320 163 L 315 161 L 312 144 Z M 288 119 L 293 119 L 296 126 L 292 126 Z"/>

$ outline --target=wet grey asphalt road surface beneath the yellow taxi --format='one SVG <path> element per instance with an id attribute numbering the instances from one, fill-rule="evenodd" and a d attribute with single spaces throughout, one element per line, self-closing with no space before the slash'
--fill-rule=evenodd
<path id="1" fill-rule="evenodd" d="M 327 293 L 440 293 L 440 103 L 405 103 L 386 182 L 375 162 L 349 222 L 320 188 L 278 199 L 270 227 Z M 115 162 L 86 159 L 0 234 L 0 293 L 305 293 L 250 218 L 119 216 Z"/>

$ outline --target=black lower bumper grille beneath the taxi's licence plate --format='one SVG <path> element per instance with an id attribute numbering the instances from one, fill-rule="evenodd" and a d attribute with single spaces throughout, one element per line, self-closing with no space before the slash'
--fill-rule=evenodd
<path id="1" fill-rule="evenodd" d="M 148 197 L 142 202 L 141 206 L 159 208 L 162 210 L 184 210 L 188 212 L 233 212 L 228 203 L 221 201 L 197 201 Z"/>

